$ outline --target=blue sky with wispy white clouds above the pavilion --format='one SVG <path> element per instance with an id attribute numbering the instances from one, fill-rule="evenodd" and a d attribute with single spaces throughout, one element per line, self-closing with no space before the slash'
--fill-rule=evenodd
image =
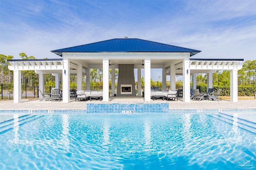
<path id="1" fill-rule="evenodd" d="M 125 36 L 255 60 L 256 0 L 0 0 L 0 54 L 14 59 Z"/>

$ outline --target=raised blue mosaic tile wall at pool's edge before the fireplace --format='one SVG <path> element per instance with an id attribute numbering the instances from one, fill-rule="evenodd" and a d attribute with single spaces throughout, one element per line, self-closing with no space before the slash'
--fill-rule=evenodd
<path id="1" fill-rule="evenodd" d="M 87 104 L 87 113 L 149 113 L 168 112 L 169 104 Z"/>

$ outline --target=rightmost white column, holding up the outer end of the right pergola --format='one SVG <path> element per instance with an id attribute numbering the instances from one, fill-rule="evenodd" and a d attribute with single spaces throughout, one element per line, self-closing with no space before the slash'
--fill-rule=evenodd
<path id="1" fill-rule="evenodd" d="M 238 102 L 238 70 L 230 70 L 230 101 Z"/>

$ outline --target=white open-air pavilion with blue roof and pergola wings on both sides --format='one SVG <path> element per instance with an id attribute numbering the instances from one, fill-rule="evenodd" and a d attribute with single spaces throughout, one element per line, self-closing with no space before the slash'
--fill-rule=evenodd
<path id="1" fill-rule="evenodd" d="M 56 87 L 59 86 L 59 76 L 62 76 L 62 101 L 69 103 L 70 75 L 77 76 L 77 90 L 82 90 L 82 76 L 86 75 L 86 88 L 90 90 L 90 68 L 103 69 L 103 101 L 108 102 L 109 68 L 118 68 L 118 64 L 134 64 L 134 68 L 138 69 L 138 96 L 142 96 L 141 69 L 144 68 L 144 101 L 150 101 L 151 68 L 162 68 L 163 89 L 166 89 L 167 75 L 170 76 L 171 90 L 176 90 L 176 75 L 183 75 L 183 102 L 190 102 L 190 76 L 193 78 L 192 86 L 196 88 L 196 75 L 207 74 L 207 86 L 212 88 L 212 73 L 230 70 L 231 101 L 238 102 L 238 70 L 242 68 L 243 59 L 190 59 L 201 51 L 130 38 L 110 39 L 52 52 L 62 59 L 8 60 L 11 64 L 8 68 L 14 70 L 14 103 L 21 102 L 22 70 L 35 70 L 39 74 L 39 89 L 42 92 L 44 74 L 55 76 Z M 112 71 L 111 77 L 114 89 L 115 71 Z M 114 90 L 111 95 L 114 96 Z"/>

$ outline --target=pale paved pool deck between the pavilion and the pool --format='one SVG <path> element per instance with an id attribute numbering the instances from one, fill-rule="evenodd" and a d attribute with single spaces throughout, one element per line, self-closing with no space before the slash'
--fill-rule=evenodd
<path id="1" fill-rule="evenodd" d="M 230 100 L 209 101 L 191 100 L 190 103 L 184 103 L 182 98 L 178 101 L 166 100 L 151 100 L 144 102 L 142 97 L 110 97 L 109 102 L 99 100 L 92 101 L 75 101 L 75 98 L 70 100 L 70 103 L 62 103 L 62 101 L 42 101 L 39 99 L 22 99 L 21 103 L 14 104 L 13 100 L 0 100 L 0 110 L 20 110 L 20 109 L 86 109 L 87 103 L 169 103 L 169 109 L 256 109 L 256 99 L 253 100 L 238 100 L 238 102 L 230 102 Z"/>

